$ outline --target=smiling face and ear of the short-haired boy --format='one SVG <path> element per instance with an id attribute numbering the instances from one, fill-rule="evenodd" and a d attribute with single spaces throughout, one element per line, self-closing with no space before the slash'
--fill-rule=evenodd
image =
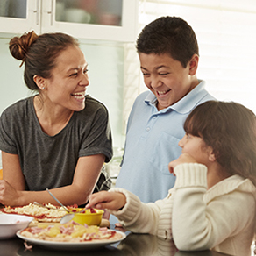
<path id="1" fill-rule="evenodd" d="M 186 68 L 169 54 L 139 53 L 140 68 L 146 87 L 158 99 L 157 108 L 162 110 L 177 103 L 198 84 L 196 69 L 198 56 L 195 54 Z"/>

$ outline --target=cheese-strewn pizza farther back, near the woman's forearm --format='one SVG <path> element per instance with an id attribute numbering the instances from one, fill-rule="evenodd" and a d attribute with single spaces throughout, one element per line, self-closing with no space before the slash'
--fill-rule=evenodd
<path id="1" fill-rule="evenodd" d="M 18 207 L 5 206 L 4 208 L 0 209 L 0 211 L 4 213 L 20 214 L 33 217 L 34 220 L 32 223 L 57 223 L 60 222 L 61 217 L 67 214 L 67 211 L 60 206 L 55 206 L 51 203 L 45 203 L 44 205 L 46 208 L 34 203 Z M 77 207 L 77 205 L 75 206 Z M 68 208 L 71 209 L 75 206 L 68 206 Z"/>

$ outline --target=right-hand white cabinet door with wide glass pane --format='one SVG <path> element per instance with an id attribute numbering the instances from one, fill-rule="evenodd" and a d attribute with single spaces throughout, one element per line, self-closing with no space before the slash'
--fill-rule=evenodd
<path id="1" fill-rule="evenodd" d="M 41 32 L 67 32 L 80 39 L 120 42 L 137 37 L 138 0 L 47 0 Z"/>

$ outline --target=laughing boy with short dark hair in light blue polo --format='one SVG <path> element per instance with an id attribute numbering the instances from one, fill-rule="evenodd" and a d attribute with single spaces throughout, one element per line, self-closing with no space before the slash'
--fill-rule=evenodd
<path id="1" fill-rule="evenodd" d="M 154 20 L 137 39 L 146 87 L 133 104 L 127 124 L 117 188 L 131 191 L 144 203 L 155 202 L 174 186 L 168 163 L 181 155 L 179 140 L 188 114 L 213 100 L 196 78 L 199 53 L 196 35 L 176 17 Z"/>

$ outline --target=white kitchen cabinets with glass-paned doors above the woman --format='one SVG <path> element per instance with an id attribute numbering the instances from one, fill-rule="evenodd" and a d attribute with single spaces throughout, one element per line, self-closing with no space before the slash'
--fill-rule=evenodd
<path id="1" fill-rule="evenodd" d="M 5 2 L 7 4 L 4 7 Z M 132 42 L 138 32 L 138 2 L 1 0 L 0 32 L 67 32 L 79 39 Z"/>

